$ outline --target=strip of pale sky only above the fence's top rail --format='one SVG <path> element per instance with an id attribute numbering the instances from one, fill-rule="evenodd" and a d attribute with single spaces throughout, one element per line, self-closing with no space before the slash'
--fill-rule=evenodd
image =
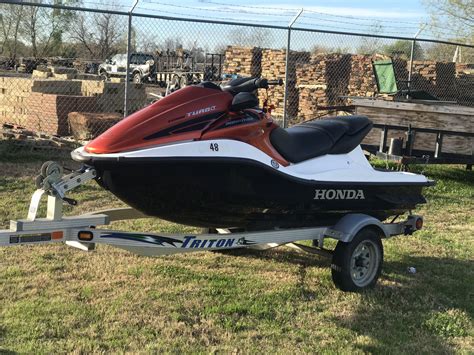
<path id="1" fill-rule="evenodd" d="M 85 3 L 104 0 L 85 0 Z M 127 11 L 133 0 L 109 0 Z M 109 2 L 107 1 L 107 2 Z M 171 17 L 216 19 L 287 26 L 303 8 L 295 26 L 412 37 L 429 21 L 423 0 L 139 0 L 135 12 Z M 110 3 L 110 2 L 109 2 Z M 427 29 L 426 37 L 432 37 Z"/>

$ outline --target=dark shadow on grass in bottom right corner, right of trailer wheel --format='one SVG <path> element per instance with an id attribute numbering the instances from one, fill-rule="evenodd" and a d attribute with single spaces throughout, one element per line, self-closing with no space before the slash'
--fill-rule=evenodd
<path id="1" fill-rule="evenodd" d="M 407 272 L 417 268 L 416 274 Z M 474 317 L 473 263 L 466 260 L 407 256 L 386 262 L 382 282 L 363 293 L 349 319 L 335 321 L 375 339 L 364 352 L 453 353 L 450 337 L 469 336 Z"/>

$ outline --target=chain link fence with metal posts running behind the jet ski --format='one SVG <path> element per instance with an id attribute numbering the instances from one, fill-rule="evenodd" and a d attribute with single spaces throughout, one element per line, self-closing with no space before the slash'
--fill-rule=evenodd
<path id="1" fill-rule="evenodd" d="M 407 88 L 474 106 L 473 46 L 45 4 L 0 12 L 0 144 L 10 150 L 69 149 L 174 90 L 238 76 L 285 80 L 268 100 L 286 125 Z M 381 60 L 393 63 L 391 94 L 374 75 Z"/>

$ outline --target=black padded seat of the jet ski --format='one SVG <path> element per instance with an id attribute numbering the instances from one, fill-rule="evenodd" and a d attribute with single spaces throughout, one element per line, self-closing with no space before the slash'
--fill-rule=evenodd
<path id="1" fill-rule="evenodd" d="M 278 127 L 270 141 L 286 160 L 299 163 L 325 154 L 349 153 L 371 129 L 372 122 L 365 116 L 342 116 Z"/>

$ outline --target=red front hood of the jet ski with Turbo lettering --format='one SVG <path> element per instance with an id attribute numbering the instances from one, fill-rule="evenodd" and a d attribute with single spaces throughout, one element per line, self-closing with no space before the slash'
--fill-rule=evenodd
<path id="1" fill-rule="evenodd" d="M 89 153 L 118 153 L 176 140 L 199 139 L 202 132 L 228 112 L 232 95 L 188 86 L 133 113 L 89 142 Z"/>

